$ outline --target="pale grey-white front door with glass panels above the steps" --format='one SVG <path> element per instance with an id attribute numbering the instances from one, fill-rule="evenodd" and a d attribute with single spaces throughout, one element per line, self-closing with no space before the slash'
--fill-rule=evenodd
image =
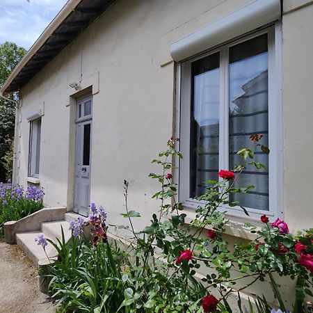
<path id="1" fill-rule="evenodd" d="M 74 212 L 89 214 L 91 167 L 91 97 L 77 101 Z"/>

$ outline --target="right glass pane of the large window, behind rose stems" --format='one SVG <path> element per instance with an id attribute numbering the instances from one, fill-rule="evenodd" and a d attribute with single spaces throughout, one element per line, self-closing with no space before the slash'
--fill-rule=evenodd
<path id="1" fill-rule="evenodd" d="M 242 163 L 236 152 L 242 147 L 255 150 L 251 134 L 263 134 L 261 143 L 268 146 L 268 47 L 267 34 L 230 48 L 230 169 Z M 248 193 L 230 195 L 243 207 L 268 210 L 268 156 L 255 152 L 255 161 L 266 166 L 250 166 L 236 181 L 236 187 L 255 186 Z"/>

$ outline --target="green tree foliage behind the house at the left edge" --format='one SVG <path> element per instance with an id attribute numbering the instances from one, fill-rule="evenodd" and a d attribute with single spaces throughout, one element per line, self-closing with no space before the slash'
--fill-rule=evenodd
<path id="1" fill-rule="evenodd" d="M 0 45 L 0 88 L 8 79 L 10 73 L 22 57 L 26 54 L 23 47 L 17 47 L 13 42 L 4 42 Z M 7 96 L 18 100 L 18 94 Z M 8 163 L 8 156 L 13 154 L 13 138 L 15 129 L 15 104 L 0 98 L 0 180 L 11 176 L 12 165 Z"/>

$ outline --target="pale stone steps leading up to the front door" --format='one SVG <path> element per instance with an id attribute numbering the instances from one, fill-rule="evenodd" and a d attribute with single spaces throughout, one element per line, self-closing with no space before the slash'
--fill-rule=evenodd
<path id="1" fill-rule="evenodd" d="M 40 223 L 40 225 L 38 225 L 38 230 L 33 230 L 29 232 L 17 232 L 17 245 L 22 248 L 22 250 L 26 253 L 29 259 L 33 261 L 35 265 L 40 266 L 43 264 L 47 264 L 47 262 L 49 262 L 47 260 L 47 255 L 49 259 L 54 259 L 55 257 L 57 257 L 58 252 L 53 246 L 51 246 L 50 243 L 48 243 L 48 246 L 46 246 L 45 248 L 45 251 L 47 252 L 46 255 L 42 246 L 38 246 L 37 242 L 35 242 L 35 238 L 38 237 L 38 235 L 43 234 L 47 239 L 51 239 L 52 241 L 56 241 L 56 238 L 61 240 L 61 227 L 63 227 L 65 241 L 67 242 L 70 240 L 70 237 L 72 235 L 71 230 L 69 230 L 70 221 L 76 220 L 78 217 L 79 214 L 76 214 L 74 212 L 68 212 L 64 214 L 64 220 L 42 222 Z"/>

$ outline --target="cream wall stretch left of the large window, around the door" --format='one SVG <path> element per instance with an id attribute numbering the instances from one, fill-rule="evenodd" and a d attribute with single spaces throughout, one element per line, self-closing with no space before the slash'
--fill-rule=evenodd
<path id="1" fill-rule="evenodd" d="M 251 1 L 117 1 L 22 90 L 19 184 L 26 185 L 29 112 L 45 103 L 42 117 L 40 185 L 49 206 L 70 207 L 74 163 L 73 89 L 93 85 L 93 145 L 90 199 L 115 222 L 130 201 L 149 220 L 158 188 L 147 177 L 150 163 L 172 136 L 174 64 L 170 44 Z M 82 70 L 82 71 L 81 71 Z M 69 105 L 70 104 L 70 105 Z M 67 185 L 69 192 L 67 192 Z M 144 206 L 144 208 L 143 208 Z M 142 221 L 140 222 L 142 223 Z"/>

